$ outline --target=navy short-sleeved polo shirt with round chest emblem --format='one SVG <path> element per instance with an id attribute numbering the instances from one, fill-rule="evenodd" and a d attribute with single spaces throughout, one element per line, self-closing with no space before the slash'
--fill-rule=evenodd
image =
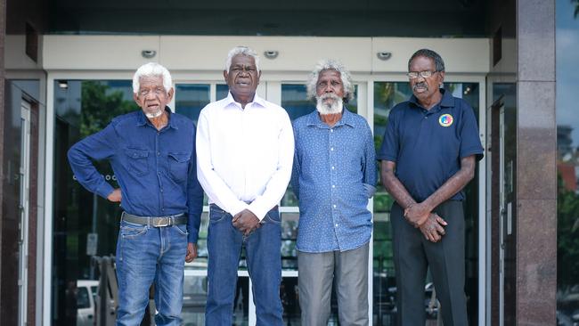
<path id="1" fill-rule="evenodd" d="M 483 158 L 477 119 L 470 105 L 441 89 L 430 110 L 416 97 L 390 111 L 377 159 L 396 163 L 396 177 L 417 202 L 426 200 L 461 168 L 461 159 Z M 463 200 L 463 192 L 451 200 Z"/>

